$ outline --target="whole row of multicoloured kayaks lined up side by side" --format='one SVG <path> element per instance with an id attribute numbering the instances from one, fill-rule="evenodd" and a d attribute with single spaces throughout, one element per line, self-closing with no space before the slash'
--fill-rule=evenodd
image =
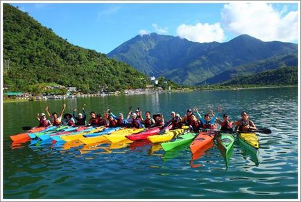
<path id="1" fill-rule="evenodd" d="M 55 140 L 55 142 L 74 142 L 92 145 L 103 143 L 119 143 L 123 140 L 149 140 L 150 143 L 160 143 L 164 151 L 169 151 L 180 145 L 190 144 L 193 154 L 203 149 L 216 138 L 218 145 L 225 154 L 230 152 L 234 143 L 233 134 L 217 133 L 216 131 L 200 131 L 193 133 L 188 127 L 170 130 L 171 126 L 151 129 L 108 128 L 108 127 L 37 127 L 23 134 L 10 136 L 13 141 L 24 139 Z M 238 134 L 239 141 L 251 151 L 257 152 L 259 141 L 255 133 Z"/>

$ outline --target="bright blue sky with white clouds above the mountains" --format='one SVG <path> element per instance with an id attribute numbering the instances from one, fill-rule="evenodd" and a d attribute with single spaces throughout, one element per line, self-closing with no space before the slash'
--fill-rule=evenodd
<path id="1" fill-rule="evenodd" d="M 227 42 L 243 33 L 298 43 L 297 3 L 12 3 L 71 44 L 101 53 L 136 35 Z M 283 30 L 287 30 L 283 32 Z"/>

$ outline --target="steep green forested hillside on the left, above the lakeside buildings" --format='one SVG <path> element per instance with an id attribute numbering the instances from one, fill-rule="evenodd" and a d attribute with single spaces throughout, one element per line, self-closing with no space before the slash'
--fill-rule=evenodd
<path id="1" fill-rule="evenodd" d="M 3 59 L 3 81 L 10 91 L 53 82 L 83 92 L 99 86 L 115 91 L 145 87 L 148 80 L 128 64 L 70 44 L 8 3 L 3 4 Z"/>

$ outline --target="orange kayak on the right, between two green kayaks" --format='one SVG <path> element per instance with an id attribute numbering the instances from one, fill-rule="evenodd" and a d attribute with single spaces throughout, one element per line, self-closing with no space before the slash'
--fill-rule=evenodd
<path id="1" fill-rule="evenodd" d="M 199 149 L 202 149 L 205 145 L 212 142 L 214 136 L 215 133 L 212 131 L 200 132 L 190 145 L 192 154 L 198 152 Z"/>

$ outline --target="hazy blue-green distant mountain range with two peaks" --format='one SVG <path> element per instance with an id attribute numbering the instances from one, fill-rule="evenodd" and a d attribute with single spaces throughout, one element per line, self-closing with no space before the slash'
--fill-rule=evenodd
<path id="1" fill-rule="evenodd" d="M 225 43 L 196 43 L 180 37 L 151 33 L 137 35 L 107 55 L 126 62 L 149 76 L 163 75 L 174 82 L 193 85 L 205 84 L 210 78 L 212 81 L 209 83 L 221 82 L 214 79 L 217 75 L 221 76 L 222 81 L 228 80 L 231 78 L 229 71 L 236 71 L 237 66 L 245 65 L 244 71 L 248 73 L 279 67 L 264 64 L 264 59 L 273 63 L 274 59 L 295 55 L 293 64 L 297 64 L 297 52 L 297 44 L 262 42 L 249 35 L 240 35 Z M 252 62 L 259 62 L 264 67 L 252 67 L 249 71 L 247 64 Z M 236 75 L 241 73 L 243 71 L 236 71 Z"/>

